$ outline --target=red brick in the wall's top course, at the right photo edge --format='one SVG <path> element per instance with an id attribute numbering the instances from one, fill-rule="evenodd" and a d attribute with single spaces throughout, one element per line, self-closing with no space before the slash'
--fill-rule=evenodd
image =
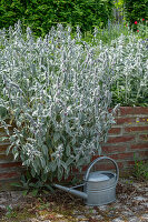
<path id="1" fill-rule="evenodd" d="M 148 114 L 148 108 L 141 108 L 141 107 L 121 107 L 120 108 L 120 114 L 126 115 L 126 114 Z"/>

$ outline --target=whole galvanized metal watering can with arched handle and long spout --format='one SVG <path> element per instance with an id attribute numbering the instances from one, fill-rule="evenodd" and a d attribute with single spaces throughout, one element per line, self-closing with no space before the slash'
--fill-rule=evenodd
<path id="1" fill-rule="evenodd" d="M 91 172 L 91 168 L 101 160 L 109 160 L 116 168 L 116 173 L 111 171 L 96 171 Z M 53 184 L 56 188 L 67 191 L 71 194 L 78 195 L 85 199 L 87 205 L 103 205 L 111 203 L 116 200 L 116 185 L 119 178 L 119 169 L 117 163 L 107 157 L 96 159 L 89 165 L 86 175 L 85 183 L 72 188 L 66 188 L 62 185 Z M 83 186 L 83 192 L 75 190 L 75 188 Z"/>

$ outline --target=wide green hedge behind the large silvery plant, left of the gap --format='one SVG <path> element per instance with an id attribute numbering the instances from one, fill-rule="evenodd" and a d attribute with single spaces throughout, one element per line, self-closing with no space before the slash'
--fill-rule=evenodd
<path id="1" fill-rule="evenodd" d="M 0 29 L 21 20 L 37 36 L 45 36 L 57 23 L 79 24 L 88 31 L 106 26 L 112 8 L 112 0 L 0 0 Z"/>

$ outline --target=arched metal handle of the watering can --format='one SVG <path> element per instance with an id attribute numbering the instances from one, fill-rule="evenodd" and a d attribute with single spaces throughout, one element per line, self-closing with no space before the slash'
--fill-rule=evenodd
<path id="1" fill-rule="evenodd" d="M 115 164 L 115 167 L 116 167 L 116 172 L 117 172 L 117 174 L 116 174 L 116 182 L 117 182 L 117 181 L 118 181 L 118 178 L 119 178 L 119 169 L 118 169 L 118 165 L 117 165 L 117 163 L 116 163 L 111 158 L 107 158 L 107 157 L 97 158 L 96 160 L 93 160 L 93 161 L 90 163 L 90 165 L 89 165 L 89 168 L 88 168 L 88 170 L 87 170 L 87 172 L 86 172 L 85 181 L 88 180 L 88 175 L 89 175 L 89 173 L 90 173 L 91 168 L 92 168 L 98 161 L 101 161 L 101 160 L 110 160 L 110 161 Z"/>

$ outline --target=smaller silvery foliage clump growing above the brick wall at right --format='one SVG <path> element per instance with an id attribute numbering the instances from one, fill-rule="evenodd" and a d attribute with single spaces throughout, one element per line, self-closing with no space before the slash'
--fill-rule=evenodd
<path id="1" fill-rule="evenodd" d="M 148 105 L 148 40 L 138 39 L 135 33 L 121 34 L 111 44 L 96 48 L 111 58 L 115 82 L 112 84 L 114 104 Z M 99 57 L 101 57 L 101 53 Z"/>

